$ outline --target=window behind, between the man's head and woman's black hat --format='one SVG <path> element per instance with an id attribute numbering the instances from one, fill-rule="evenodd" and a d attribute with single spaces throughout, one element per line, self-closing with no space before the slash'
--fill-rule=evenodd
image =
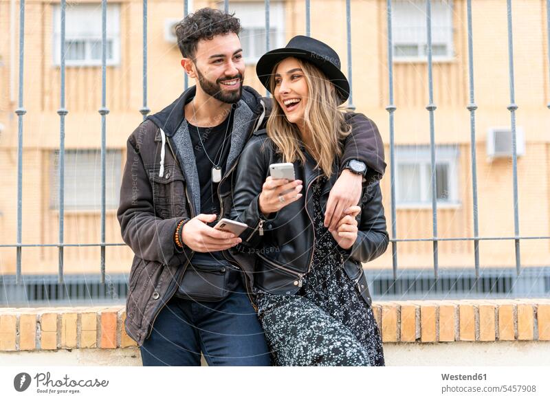
<path id="1" fill-rule="evenodd" d="M 223 10 L 223 3 L 220 5 Z M 230 1 L 229 12 L 241 20 L 243 30 L 239 37 L 246 63 L 256 63 L 265 49 L 265 2 L 239 3 Z M 283 3 L 271 2 L 270 6 L 270 48 L 285 46 L 285 11 Z"/>

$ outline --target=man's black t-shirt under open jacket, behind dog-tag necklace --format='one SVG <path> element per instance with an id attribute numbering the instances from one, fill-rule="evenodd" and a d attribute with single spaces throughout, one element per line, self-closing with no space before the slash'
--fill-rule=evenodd
<path id="1" fill-rule="evenodd" d="M 220 204 L 217 195 L 218 184 L 212 182 L 212 167 L 214 162 L 221 168 L 221 176 L 225 173 L 225 163 L 228 160 L 231 147 L 233 113 L 228 115 L 221 124 L 212 128 L 197 128 L 188 121 L 189 135 L 195 153 L 195 163 L 199 173 L 201 187 L 201 214 L 216 214 L 219 219 Z M 199 140 L 199 135 L 200 140 Z M 202 140 L 202 143 L 201 143 Z M 206 151 L 206 154 L 205 154 Z M 208 159 L 208 157 L 210 159 Z M 212 162 L 210 161 L 212 160 Z M 210 224 L 213 226 L 214 224 Z M 212 263 L 216 265 L 228 265 L 221 252 L 199 253 L 195 252 L 191 263 L 193 265 Z"/>

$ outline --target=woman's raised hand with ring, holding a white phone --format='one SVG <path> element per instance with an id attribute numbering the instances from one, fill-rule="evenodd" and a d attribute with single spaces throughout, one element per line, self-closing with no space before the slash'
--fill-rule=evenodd
<path id="1" fill-rule="evenodd" d="M 260 193 L 259 206 L 260 211 L 264 215 L 269 215 L 272 212 L 277 212 L 285 205 L 294 203 L 300 199 L 303 185 L 300 179 L 296 179 L 289 183 L 288 179 L 273 179 L 267 177 L 262 186 Z M 283 195 L 284 192 L 287 192 Z"/>

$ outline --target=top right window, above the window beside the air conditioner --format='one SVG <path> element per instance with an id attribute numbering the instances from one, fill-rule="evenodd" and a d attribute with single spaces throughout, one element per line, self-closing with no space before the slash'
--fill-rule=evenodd
<path id="1" fill-rule="evenodd" d="M 395 60 L 427 60 L 426 0 L 394 0 L 392 34 Z M 453 57 L 450 0 L 432 1 L 432 57 Z"/>

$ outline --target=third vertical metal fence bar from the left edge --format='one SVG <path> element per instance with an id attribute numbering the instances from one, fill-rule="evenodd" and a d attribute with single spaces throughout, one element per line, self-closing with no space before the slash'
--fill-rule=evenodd
<path id="1" fill-rule="evenodd" d="M 101 0 L 101 238 L 100 238 L 100 269 L 101 282 L 105 282 L 105 156 L 106 146 L 106 117 L 107 109 L 107 0 Z"/>

